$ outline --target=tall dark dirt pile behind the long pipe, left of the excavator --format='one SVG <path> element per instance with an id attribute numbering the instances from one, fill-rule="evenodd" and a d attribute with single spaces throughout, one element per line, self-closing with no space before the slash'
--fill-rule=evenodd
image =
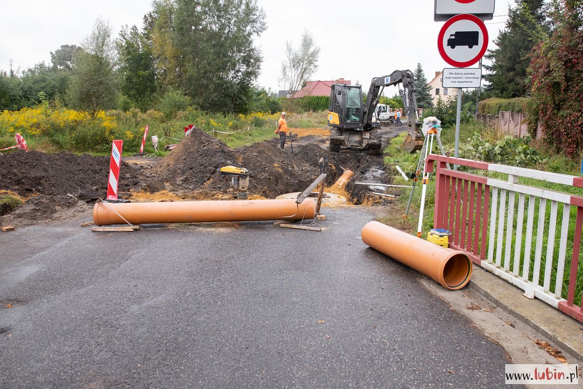
<path id="1" fill-rule="evenodd" d="M 340 164 L 355 171 L 357 179 L 364 178 L 371 166 L 382 166 L 382 158 L 361 152 L 334 154 L 334 158 L 319 142 L 294 144 L 293 160 L 290 146 L 280 149 L 278 139 L 231 150 L 219 139 L 193 130 L 187 139 L 145 174 L 146 180 L 141 188 L 149 192 L 178 191 L 185 197 L 198 191 L 224 193 L 229 188 L 230 178 L 217 169 L 240 165 L 252 172 L 250 195 L 275 198 L 284 193 L 303 191 L 320 174 L 318 160 L 322 156 L 327 165 L 328 185 L 342 174 Z M 361 192 L 366 187 L 349 188 L 354 202 L 359 204 L 365 197 Z"/>

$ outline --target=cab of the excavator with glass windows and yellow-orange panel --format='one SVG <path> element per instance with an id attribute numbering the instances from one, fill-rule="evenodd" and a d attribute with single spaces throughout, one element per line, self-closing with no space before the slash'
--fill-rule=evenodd
<path id="1" fill-rule="evenodd" d="M 361 129 L 363 91 L 360 86 L 333 84 L 330 89 L 328 125 L 336 128 Z"/>

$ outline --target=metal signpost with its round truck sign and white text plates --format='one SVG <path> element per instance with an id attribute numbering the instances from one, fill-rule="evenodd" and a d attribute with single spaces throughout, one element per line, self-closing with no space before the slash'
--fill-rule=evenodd
<path id="1" fill-rule="evenodd" d="M 454 3 L 476 5 L 486 3 L 480 0 L 436 0 L 436 17 L 438 5 L 445 3 L 450 6 L 448 12 L 455 9 L 464 9 Z M 494 12 L 494 1 L 491 2 L 491 11 Z M 443 8 L 443 7 L 442 7 Z M 480 10 L 484 10 L 483 8 Z M 444 11 L 445 12 L 445 11 Z M 437 19 L 436 19 L 437 20 Z M 445 22 L 437 37 L 437 48 L 441 57 L 451 66 L 466 68 L 480 61 L 488 47 L 488 30 L 482 20 L 469 13 L 455 15 Z M 477 72 L 479 70 L 479 72 Z M 455 118 L 455 149 L 454 156 L 459 153 L 459 125 L 462 114 L 463 87 L 479 87 L 482 78 L 482 69 L 444 69 L 441 79 L 443 87 L 458 88 L 458 109 Z M 475 86 L 477 84 L 477 86 Z M 454 170 L 458 166 L 454 165 Z"/>

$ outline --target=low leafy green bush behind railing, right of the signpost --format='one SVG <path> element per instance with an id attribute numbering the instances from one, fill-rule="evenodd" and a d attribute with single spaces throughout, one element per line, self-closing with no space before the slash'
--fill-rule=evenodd
<path id="1" fill-rule="evenodd" d="M 529 146 L 532 139 L 529 136 L 515 138 L 506 135 L 498 141 L 484 141 L 476 132 L 467 143 L 461 143 L 460 155 L 463 158 L 496 162 L 513 166 L 532 166 L 543 162 L 537 149 Z"/>

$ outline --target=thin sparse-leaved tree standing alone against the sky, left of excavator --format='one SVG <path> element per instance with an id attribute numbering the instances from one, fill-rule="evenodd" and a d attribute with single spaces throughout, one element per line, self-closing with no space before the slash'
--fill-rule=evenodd
<path id="1" fill-rule="evenodd" d="M 319 54 L 320 48 L 308 30 L 301 34 L 300 47 L 297 50 L 291 41 L 286 41 L 286 52 L 279 79 L 283 89 L 289 90 L 290 94 L 300 90 L 318 69 Z"/>

